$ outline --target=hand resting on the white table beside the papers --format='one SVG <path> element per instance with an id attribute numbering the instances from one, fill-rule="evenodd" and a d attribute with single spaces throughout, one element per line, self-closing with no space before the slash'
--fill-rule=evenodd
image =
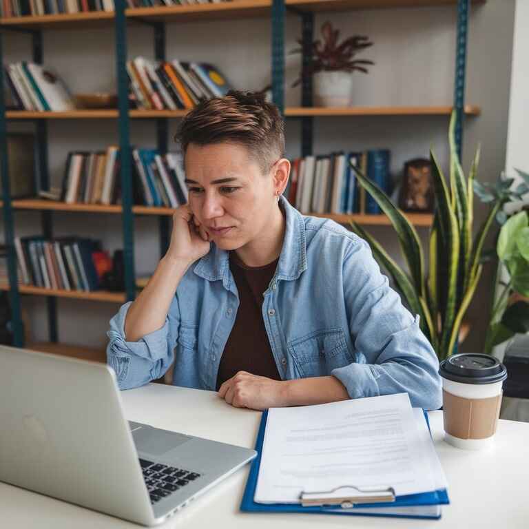
<path id="1" fill-rule="evenodd" d="M 220 386 L 218 395 L 236 408 L 266 410 L 285 406 L 284 388 L 285 382 L 282 380 L 239 371 Z"/>

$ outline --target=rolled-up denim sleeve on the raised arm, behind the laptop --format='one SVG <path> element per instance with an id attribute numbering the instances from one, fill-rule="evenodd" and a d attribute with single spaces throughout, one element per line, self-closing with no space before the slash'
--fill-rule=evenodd
<path id="1" fill-rule="evenodd" d="M 132 302 L 125 303 L 110 320 L 107 364 L 114 369 L 120 389 L 143 386 L 165 374 L 174 360 L 169 316 L 160 329 L 137 342 L 125 340 L 125 318 Z"/>

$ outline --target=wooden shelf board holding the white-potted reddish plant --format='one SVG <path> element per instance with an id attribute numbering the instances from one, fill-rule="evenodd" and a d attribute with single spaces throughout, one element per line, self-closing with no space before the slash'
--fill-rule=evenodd
<path id="1" fill-rule="evenodd" d="M 450 116 L 453 107 L 287 107 L 285 116 Z M 479 116 L 480 107 L 465 105 L 465 114 Z"/>

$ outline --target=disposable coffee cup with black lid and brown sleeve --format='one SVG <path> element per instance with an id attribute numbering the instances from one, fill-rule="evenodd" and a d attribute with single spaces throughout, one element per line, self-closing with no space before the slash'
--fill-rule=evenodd
<path id="1" fill-rule="evenodd" d="M 444 439 L 457 448 L 482 450 L 494 441 L 507 370 L 495 357 L 467 353 L 441 362 Z"/>

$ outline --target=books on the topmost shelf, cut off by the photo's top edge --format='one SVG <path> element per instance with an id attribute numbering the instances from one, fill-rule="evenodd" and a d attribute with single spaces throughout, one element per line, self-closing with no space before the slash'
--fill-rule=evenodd
<path id="1" fill-rule="evenodd" d="M 198 3 L 220 3 L 231 0 L 127 0 L 127 8 L 180 6 Z M 38 16 L 41 14 L 114 11 L 114 0 L 3 0 L 0 17 Z"/>

